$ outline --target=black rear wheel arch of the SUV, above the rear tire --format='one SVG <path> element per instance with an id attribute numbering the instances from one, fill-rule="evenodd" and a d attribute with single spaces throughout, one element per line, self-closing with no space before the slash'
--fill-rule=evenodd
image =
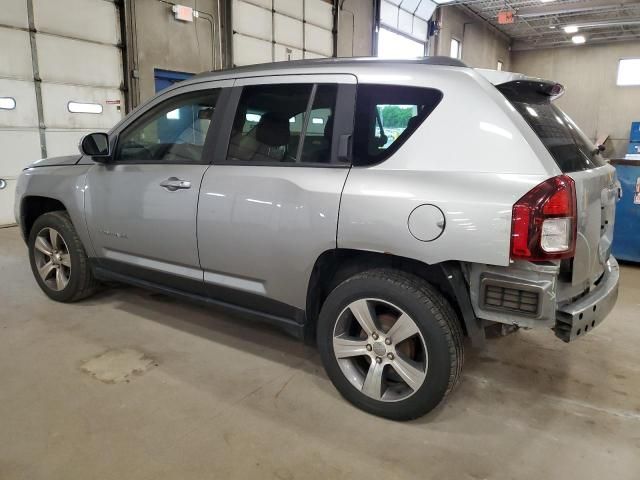
<path id="1" fill-rule="evenodd" d="M 447 298 L 472 344 L 483 345 L 484 329 L 471 306 L 469 287 L 460 262 L 429 265 L 388 253 L 342 248 L 323 252 L 314 264 L 307 287 L 305 341 L 315 342 L 320 309 L 335 287 L 357 273 L 381 267 L 411 273 L 427 280 Z"/>

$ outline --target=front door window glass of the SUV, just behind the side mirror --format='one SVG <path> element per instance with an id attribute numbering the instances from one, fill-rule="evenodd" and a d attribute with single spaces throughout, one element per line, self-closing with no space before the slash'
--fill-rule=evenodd
<path id="1" fill-rule="evenodd" d="M 199 163 L 220 90 L 167 100 L 128 127 L 116 160 L 130 163 Z"/>

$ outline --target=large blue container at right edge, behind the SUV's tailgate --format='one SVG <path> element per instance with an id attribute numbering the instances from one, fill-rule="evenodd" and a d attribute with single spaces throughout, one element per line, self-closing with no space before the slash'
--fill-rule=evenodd
<path id="1" fill-rule="evenodd" d="M 640 160 L 611 160 L 622 185 L 622 198 L 616 205 L 613 256 L 640 262 Z"/>

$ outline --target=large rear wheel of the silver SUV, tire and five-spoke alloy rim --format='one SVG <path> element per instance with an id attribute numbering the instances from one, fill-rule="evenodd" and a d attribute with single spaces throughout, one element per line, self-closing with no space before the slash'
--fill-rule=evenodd
<path id="1" fill-rule="evenodd" d="M 366 318 L 363 312 L 374 318 L 368 325 L 374 334 L 362 327 L 368 320 L 356 317 Z M 327 375 L 344 398 L 374 415 L 412 420 L 433 410 L 458 382 L 462 336 L 453 308 L 429 283 L 375 269 L 329 294 L 317 343 Z"/>

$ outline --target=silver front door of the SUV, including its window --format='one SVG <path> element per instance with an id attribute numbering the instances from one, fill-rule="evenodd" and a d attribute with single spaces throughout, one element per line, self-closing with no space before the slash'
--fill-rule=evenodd
<path id="1" fill-rule="evenodd" d="M 87 223 L 101 266 L 181 290 L 202 287 L 198 191 L 221 91 L 168 94 L 118 133 L 111 162 L 89 171 Z"/>

